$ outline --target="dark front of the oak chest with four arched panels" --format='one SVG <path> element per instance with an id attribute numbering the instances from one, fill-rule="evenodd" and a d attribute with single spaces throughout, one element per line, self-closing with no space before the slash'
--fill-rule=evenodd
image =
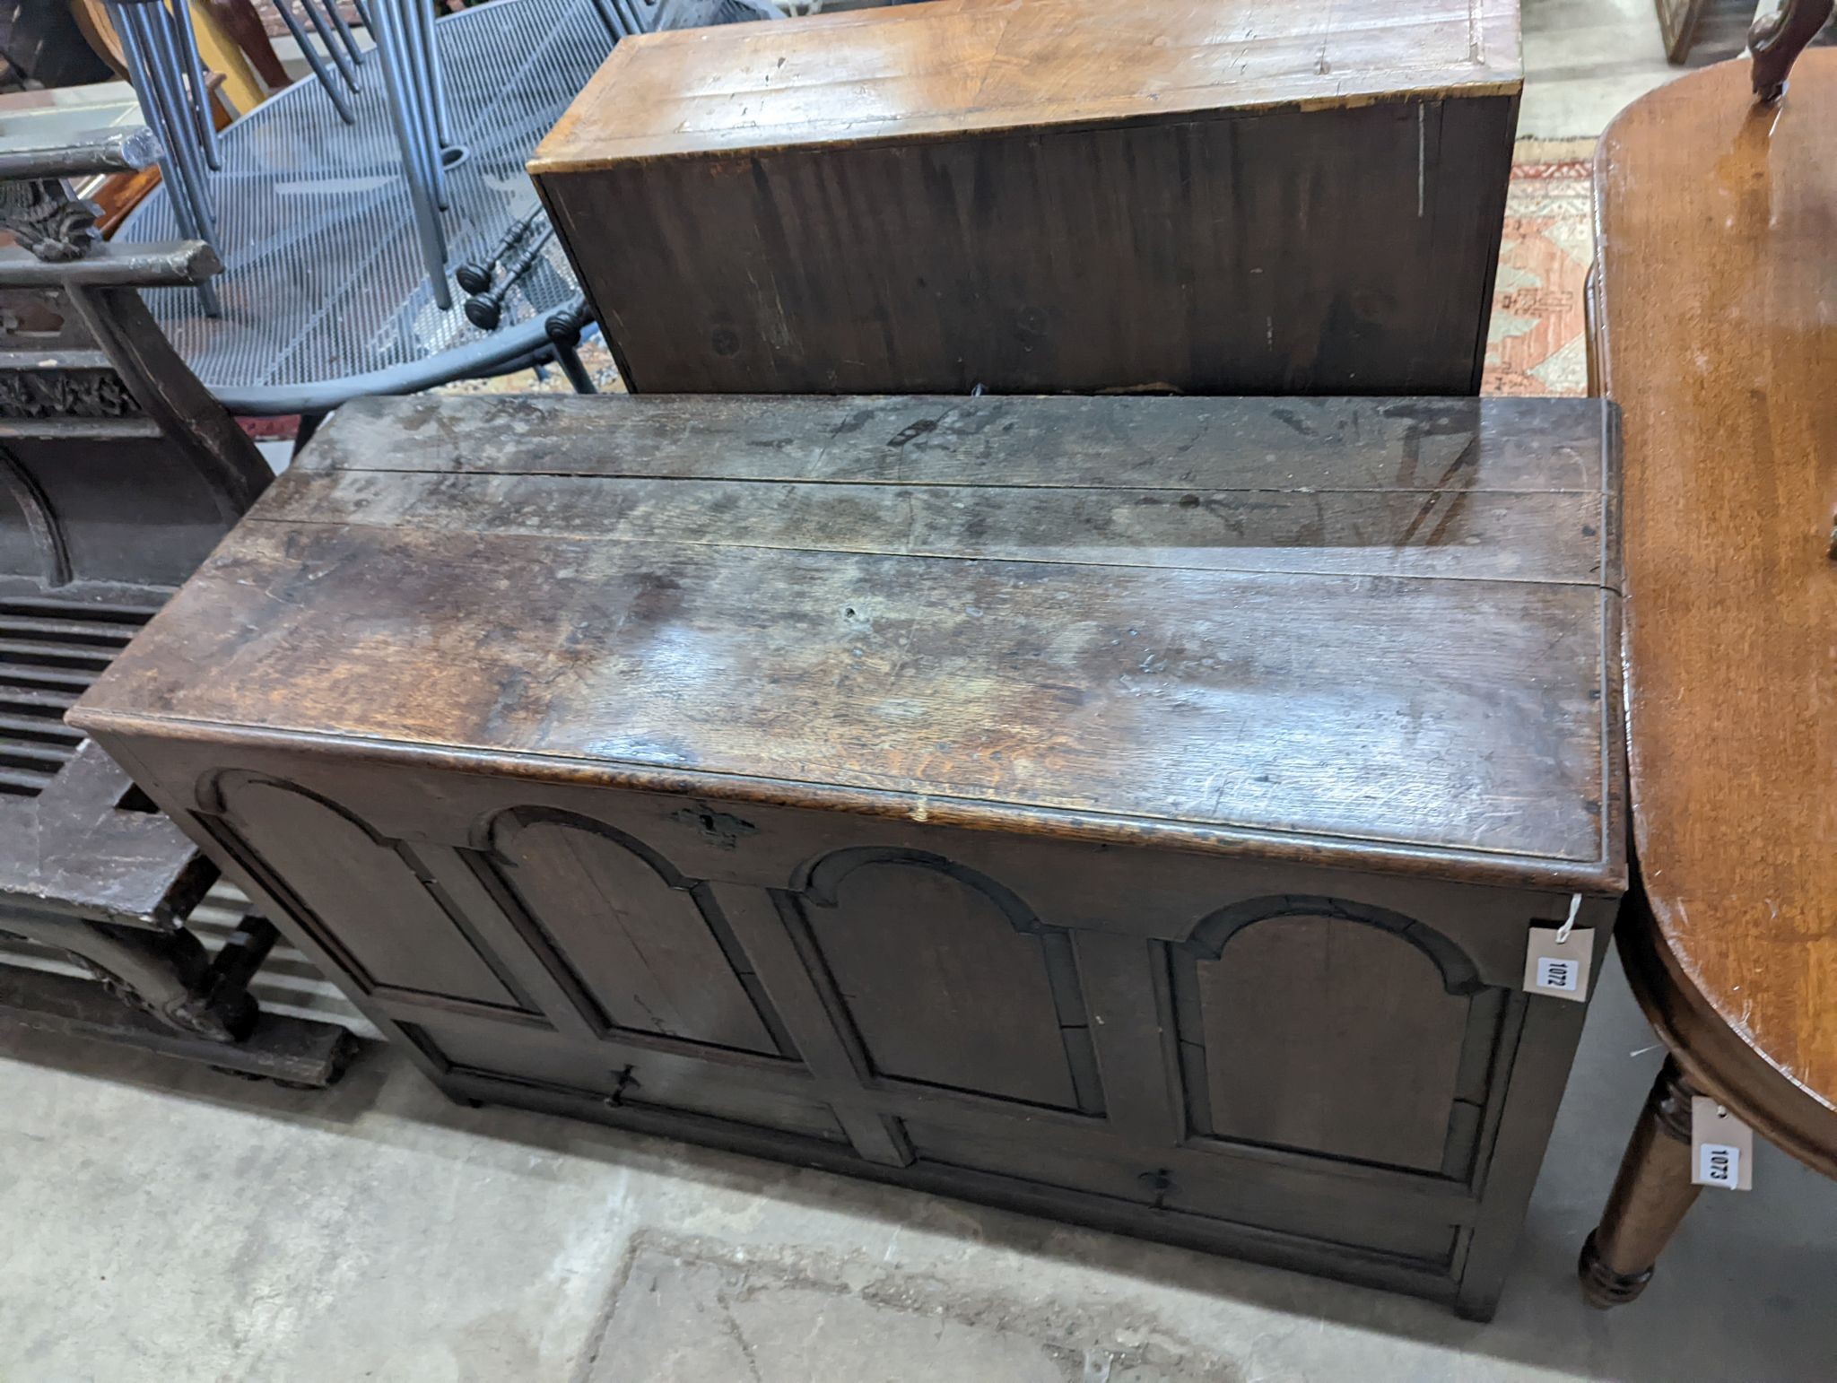
<path id="1" fill-rule="evenodd" d="M 450 1085 L 1214 1245 L 1453 1282 L 1554 1003 L 1512 964 L 1561 896 L 241 759 L 186 819 Z"/>

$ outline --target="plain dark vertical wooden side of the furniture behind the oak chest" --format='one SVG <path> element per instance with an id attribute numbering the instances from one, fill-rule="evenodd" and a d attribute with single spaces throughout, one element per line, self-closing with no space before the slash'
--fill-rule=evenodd
<path id="1" fill-rule="evenodd" d="M 536 186 L 634 391 L 1459 395 L 1479 386 L 1516 107 L 792 149 Z"/>

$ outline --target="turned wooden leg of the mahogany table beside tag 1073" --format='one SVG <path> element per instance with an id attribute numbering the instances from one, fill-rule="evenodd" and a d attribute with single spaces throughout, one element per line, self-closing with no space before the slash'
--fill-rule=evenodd
<path id="1" fill-rule="evenodd" d="M 1646 1289 L 1651 1265 L 1697 1199 L 1699 1188 L 1690 1181 L 1690 1096 L 1697 1093 L 1677 1060 L 1666 1056 L 1639 1111 L 1602 1221 L 1582 1245 L 1576 1273 L 1593 1306 L 1622 1306 Z"/>

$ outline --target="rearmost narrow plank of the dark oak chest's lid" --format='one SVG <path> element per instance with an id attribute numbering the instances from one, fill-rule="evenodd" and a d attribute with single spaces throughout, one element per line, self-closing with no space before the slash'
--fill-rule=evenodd
<path id="1" fill-rule="evenodd" d="M 294 470 L 1178 490 L 1422 490 L 1446 476 L 1479 490 L 1618 489 L 1606 483 L 1598 408 L 1552 399 L 417 395 L 358 399 L 340 419 L 349 424 L 316 433 Z"/>

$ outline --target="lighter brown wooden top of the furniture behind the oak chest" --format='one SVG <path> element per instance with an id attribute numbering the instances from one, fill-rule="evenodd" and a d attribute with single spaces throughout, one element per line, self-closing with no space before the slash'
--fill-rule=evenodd
<path id="1" fill-rule="evenodd" d="M 529 167 L 1519 86 L 1516 0 L 931 0 L 626 39 Z"/>

